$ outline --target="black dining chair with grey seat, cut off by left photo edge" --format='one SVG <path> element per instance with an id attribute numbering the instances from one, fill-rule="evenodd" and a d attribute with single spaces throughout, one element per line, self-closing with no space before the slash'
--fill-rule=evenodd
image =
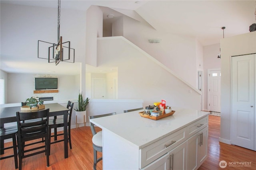
<path id="1" fill-rule="evenodd" d="M 1 151 L 6 149 L 13 149 L 12 155 L 2 156 L 0 160 L 14 157 L 15 169 L 18 168 L 18 154 L 17 154 L 17 143 L 16 143 L 17 132 L 18 132 L 17 126 L 3 127 L 0 129 L 1 140 L 12 139 L 12 147 L 1 148 Z"/>

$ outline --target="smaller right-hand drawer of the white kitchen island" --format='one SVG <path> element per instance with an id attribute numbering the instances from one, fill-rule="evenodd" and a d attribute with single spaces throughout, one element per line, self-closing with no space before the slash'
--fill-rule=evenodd
<path id="1" fill-rule="evenodd" d="M 198 131 L 204 129 L 204 127 L 208 126 L 208 116 L 188 125 L 188 137 L 196 134 Z"/>

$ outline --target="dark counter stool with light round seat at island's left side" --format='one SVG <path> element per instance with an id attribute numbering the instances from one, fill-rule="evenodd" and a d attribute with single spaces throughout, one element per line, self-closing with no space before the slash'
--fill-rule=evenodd
<path id="1" fill-rule="evenodd" d="M 98 117 L 104 117 L 104 116 L 110 116 L 115 115 L 114 113 L 107 113 L 104 115 L 95 115 L 95 116 L 89 116 L 90 119 L 98 118 Z M 94 124 L 90 122 L 90 127 L 92 131 L 92 146 L 93 146 L 93 154 L 94 154 L 94 163 L 93 163 L 93 169 L 96 170 L 97 163 L 102 160 L 102 157 L 97 159 L 97 152 L 102 152 L 102 131 L 96 132 Z"/>

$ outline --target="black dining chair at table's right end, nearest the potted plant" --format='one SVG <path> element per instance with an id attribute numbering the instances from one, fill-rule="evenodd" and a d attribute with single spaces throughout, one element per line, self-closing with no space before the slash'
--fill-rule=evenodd
<path id="1" fill-rule="evenodd" d="M 71 123 L 73 107 L 74 107 L 74 103 L 68 101 L 68 104 L 67 104 L 67 108 L 69 109 L 69 111 L 68 111 L 68 142 L 69 142 L 70 149 L 72 149 L 72 145 L 71 145 L 71 131 L 70 131 L 71 124 L 70 123 Z M 64 127 L 64 119 L 63 118 L 56 118 L 56 117 L 54 117 L 54 119 L 49 121 L 49 141 L 50 141 L 50 144 L 54 144 L 54 143 L 58 143 L 58 142 L 64 141 L 64 139 L 57 140 L 57 136 L 64 135 L 64 133 L 57 134 L 57 127 Z M 51 129 L 52 128 L 54 128 L 54 135 L 51 134 Z M 51 137 L 54 137 L 54 141 L 53 142 L 51 142 Z"/>

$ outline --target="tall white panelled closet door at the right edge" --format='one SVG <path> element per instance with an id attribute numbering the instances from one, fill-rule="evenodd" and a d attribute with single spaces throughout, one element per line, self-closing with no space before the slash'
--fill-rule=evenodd
<path id="1" fill-rule="evenodd" d="M 254 150 L 254 55 L 232 57 L 231 143 Z"/>

